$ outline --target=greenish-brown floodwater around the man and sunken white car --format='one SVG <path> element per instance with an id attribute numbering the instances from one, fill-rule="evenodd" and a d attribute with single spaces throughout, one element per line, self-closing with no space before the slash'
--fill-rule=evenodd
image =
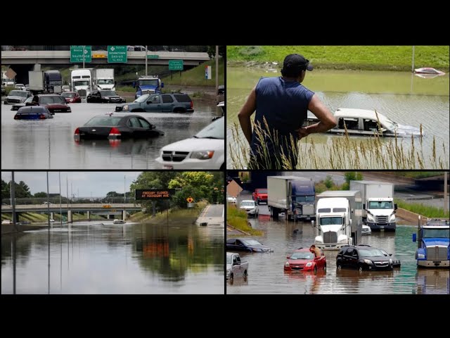
<path id="1" fill-rule="evenodd" d="M 264 68 L 227 68 L 227 168 L 245 168 L 242 162 L 237 161 L 236 163 L 235 161 L 233 163 L 230 155 L 230 151 L 236 152 L 236 149 L 239 148 L 236 139 L 233 139 L 234 123 L 238 125 L 240 138 L 245 140 L 237 118 L 240 108 L 243 106 L 250 90 L 257 84 L 259 77 L 278 75 L 281 75 L 278 71 L 269 71 Z M 446 163 L 446 168 L 448 168 L 450 142 L 448 74 L 424 79 L 407 72 L 319 69 L 307 72 L 303 84 L 316 92 L 331 112 L 334 112 L 337 108 L 375 108 L 378 112 L 401 125 L 412 125 L 414 127 L 422 125 L 425 137 L 422 139 L 421 149 L 418 139 L 414 140 L 414 147 L 416 151 L 423 152 L 424 168 L 435 168 L 433 162 L 439 162 L 439 160 L 430 160 L 433 139 L 436 142 L 436 158 L 444 161 L 444 165 Z M 254 115 L 252 115 L 252 120 L 254 120 Z M 333 139 L 337 138 L 342 138 L 342 135 L 311 134 L 309 137 L 302 139 L 300 144 L 304 144 L 305 149 L 308 149 L 311 142 L 314 142 L 316 146 L 331 146 Z M 351 139 L 360 142 L 368 139 L 368 137 L 352 136 Z M 391 137 L 384 140 L 384 142 L 390 141 L 392 141 Z M 404 152 L 412 149 L 410 138 L 400 138 L 399 142 L 401 142 Z M 245 144 L 248 149 L 246 141 Z M 316 151 L 316 156 L 322 156 L 319 161 L 321 159 L 328 161 L 330 154 L 328 151 L 322 153 Z M 420 168 L 419 163 L 416 163 L 416 168 Z"/>

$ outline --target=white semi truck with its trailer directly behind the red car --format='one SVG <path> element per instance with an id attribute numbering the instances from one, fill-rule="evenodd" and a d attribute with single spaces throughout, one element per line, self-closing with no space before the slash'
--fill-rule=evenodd
<path id="1" fill-rule="evenodd" d="M 316 230 L 319 234 L 314 244 L 324 250 L 359 244 L 362 235 L 361 208 L 359 191 L 335 190 L 317 195 Z"/>

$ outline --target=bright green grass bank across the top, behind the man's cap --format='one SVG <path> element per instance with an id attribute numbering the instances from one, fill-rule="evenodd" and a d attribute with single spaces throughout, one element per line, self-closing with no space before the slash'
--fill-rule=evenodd
<path id="1" fill-rule="evenodd" d="M 227 63 L 277 62 L 298 53 L 316 68 L 411 71 L 412 46 L 227 46 Z M 414 68 L 449 71 L 449 46 L 416 46 Z"/>

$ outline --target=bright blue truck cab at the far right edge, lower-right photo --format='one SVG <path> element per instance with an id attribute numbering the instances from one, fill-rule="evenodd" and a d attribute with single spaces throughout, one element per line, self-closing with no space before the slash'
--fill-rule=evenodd
<path id="1" fill-rule="evenodd" d="M 413 234 L 413 242 L 417 242 L 416 260 L 418 267 L 449 267 L 449 235 L 448 220 L 429 220 L 418 226 L 418 233 Z"/>

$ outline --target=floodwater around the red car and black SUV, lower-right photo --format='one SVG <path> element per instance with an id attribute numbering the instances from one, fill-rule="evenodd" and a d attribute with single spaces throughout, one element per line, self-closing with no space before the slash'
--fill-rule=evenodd
<path id="1" fill-rule="evenodd" d="M 286 256 L 298 247 L 314 243 L 316 228 L 310 222 L 269 219 L 266 205 L 259 206 L 259 218 L 250 218 L 262 237 L 252 237 L 274 249 L 272 253 L 240 252 L 249 262 L 248 280 L 235 278 L 227 282 L 227 294 L 450 294 L 449 269 L 418 269 L 414 259 L 417 244 L 412 242 L 416 227 L 403 221 L 396 232 L 372 232 L 363 236 L 362 244 L 385 249 L 401 261 L 392 271 L 362 271 L 336 268 L 338 251 L 323 251 L 327 269 L 314 273 L 285 273 Z M 294 232 L 294 230 L 297 232 Z"/>

